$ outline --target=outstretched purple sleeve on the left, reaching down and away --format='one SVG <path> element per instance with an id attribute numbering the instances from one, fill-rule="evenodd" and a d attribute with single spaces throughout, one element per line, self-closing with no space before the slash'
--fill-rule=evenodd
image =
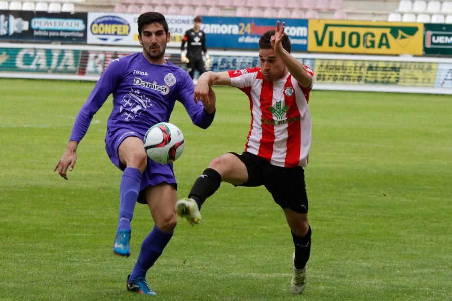
<path id="1" fill-rule="evenodd" d="M 108 65 L 105 72 L 97 81 L 88 100 L 86 100 L 85 104 L 78 112 L 69 141 L 80 142 L 85 136 L 92 117 L 104 104 L 108 96 L 115 91 L 116 86 L 121 81 L 122 74 L 119 61 L 112 61 Z"/>

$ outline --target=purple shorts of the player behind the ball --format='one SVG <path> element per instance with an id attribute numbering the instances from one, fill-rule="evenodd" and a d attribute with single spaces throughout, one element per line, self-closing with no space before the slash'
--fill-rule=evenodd
<path id="1" fill-rule="evenodd" d="M 142 135 L 140 135 L 136 131 L 129 129 L 119 129 L 113 133 L 108 132 L 105 137 L 105 150 L 108 154 L 108 157 L 110 157 L 111 162 L 122 171 L 126 168 L 126 166 L 121 164 L 119 160 L 118 147 L 124 141 L 124 139 L 131 136 L 138 137 L 143 140 Z M 163 182 L 171 184 L 177 189 L 177 182 L 174 176 L 173 164 L 160 164 L 148 158 L 146 170 L 144 171 L 143 177 L 141 178 L 140 194 L 138 195 L 137 202 L 146 204 L 143 190 L 150 185 L 153 186 Z"/>

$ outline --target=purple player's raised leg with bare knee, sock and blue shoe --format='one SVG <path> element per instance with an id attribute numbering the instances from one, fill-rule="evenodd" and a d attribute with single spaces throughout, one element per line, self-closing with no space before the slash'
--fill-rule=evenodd
<path id="1" fill-rule="evenodd" d="M 127 137 L 118 147 L 120 162 L 126 166 L 120 184 L 120 209 L 113 252 L 117 256 L 130 255 L 130 222 L 135 202 L 140 192 L 140 182 L 146 168 L 147 157 L 143 142 L 137 137 Z"/>

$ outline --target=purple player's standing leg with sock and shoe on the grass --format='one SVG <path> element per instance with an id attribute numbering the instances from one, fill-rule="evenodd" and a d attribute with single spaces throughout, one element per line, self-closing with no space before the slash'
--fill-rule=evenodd
<path id="1" fill-rule="evenodd" d="M 127 278 L 127 289 L 141 294 L 155 295 L 147 282 L 146 273 L 162 254 L 176 227 L 176 189 L 167 183 L 149 186 L 145 198 L 155 225 L 141 245 L 135 267 Z"/>

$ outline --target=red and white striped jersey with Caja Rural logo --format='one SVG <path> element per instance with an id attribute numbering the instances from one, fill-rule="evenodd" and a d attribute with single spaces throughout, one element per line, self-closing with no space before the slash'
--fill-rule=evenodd
<path id="1" fill-rule="evenodd" d="M 305 68 L 314 76 L 309 67 Z M 251 128 L 246 152 L 276 166 L 306 166 L 312 133 L 308 107 L 312 85 L 301 87 L 290 73 L 277 81 L 266 81 L 259 67 L 228 73 L 231 85 L 250 100 Z"/>

